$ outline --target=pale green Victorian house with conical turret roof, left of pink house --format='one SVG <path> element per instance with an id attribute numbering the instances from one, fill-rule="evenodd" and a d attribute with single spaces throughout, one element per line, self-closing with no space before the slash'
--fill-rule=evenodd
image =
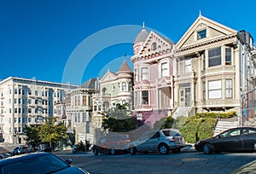
<path id="1" fill-rule="evenodd" d="M 133 73 L 126 61 L 117 73 L 107 73 L 99 80 L 100 90 L 92 96 L 92 118 L 96 129 L 102 128 L 102 119 L 116 104 L 129 104 L 132 109 Z"/>

